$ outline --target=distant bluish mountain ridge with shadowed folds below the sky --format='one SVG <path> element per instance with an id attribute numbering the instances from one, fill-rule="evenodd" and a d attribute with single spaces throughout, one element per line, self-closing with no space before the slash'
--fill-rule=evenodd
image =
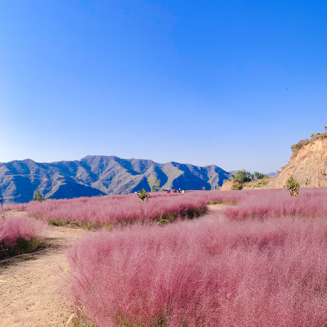
<path id="1" fill-rule="evenodd" d="M 123 190 L 149 191 L 147 178 L 161 181 L 163 188 L 206 190 L 222 185 L 229 173 L 216 165 L 156 163 L 115 156 L 86 156 L 80 160 L 37 163 L 31 159 L 0 163 L 0 196 L 4 200 L 27 202 L 39 189 L 46 198 L 75 198 L 98 194 L 120 194 Z"/>

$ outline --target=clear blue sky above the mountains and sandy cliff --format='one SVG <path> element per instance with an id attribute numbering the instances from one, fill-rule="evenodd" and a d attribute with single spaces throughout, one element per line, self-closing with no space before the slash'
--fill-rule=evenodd
<path id="1" fill-rule="evenodd" d="M 264 172 L 327 125 L 326 1 L 0 1 L 0 161 Z"/>

